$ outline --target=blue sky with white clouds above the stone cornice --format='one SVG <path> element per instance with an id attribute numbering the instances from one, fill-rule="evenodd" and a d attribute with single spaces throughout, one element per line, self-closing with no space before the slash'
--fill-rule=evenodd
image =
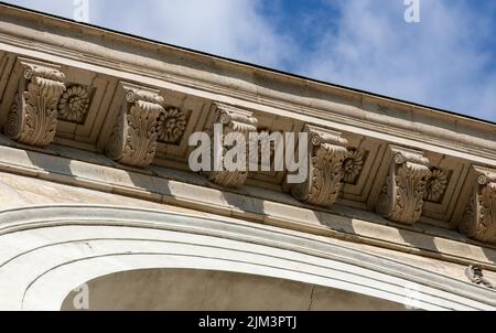
<path id="1" fill-rule="evenodd" d="M 89 22 L 496 121 L 496 1 L 88 0 Z M 73 18 L 73 0 L 10 0 Z"/>

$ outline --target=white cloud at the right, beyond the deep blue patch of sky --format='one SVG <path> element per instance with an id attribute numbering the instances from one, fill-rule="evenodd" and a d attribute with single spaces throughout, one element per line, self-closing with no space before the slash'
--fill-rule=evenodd
<path id="1" fill-rule="evenodd" d="M 466 2 L 421 0 L 421 22 L 411 24 L 403 20 L 402 1 L 339 3 L 337 32 L 322 35 L 300 71 L 496 120 L 496 73 L 486 66 L 494 54 L 481 47 L 489 23 L 471 17 Z"/>

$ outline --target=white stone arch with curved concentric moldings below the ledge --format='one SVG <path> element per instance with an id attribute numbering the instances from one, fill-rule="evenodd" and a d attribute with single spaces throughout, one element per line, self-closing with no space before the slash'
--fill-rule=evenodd
<path id="1" fill-rule="evenodd" d="M 255 275 L 424 310 L 493 310 L 493 293 L 304 234 L 213 215 L 61 205 L 0 214 L 4 310 L 60 310 L 76 287 L 141 269 Z"/>

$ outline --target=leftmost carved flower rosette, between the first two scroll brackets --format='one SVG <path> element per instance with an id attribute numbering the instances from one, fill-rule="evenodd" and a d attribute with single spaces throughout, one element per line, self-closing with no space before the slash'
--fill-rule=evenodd
<path id="1" fill-rule="evenodd" d="M 58 101 L 58 119 L 83 123 L 89 108 L 89 94 L 83 86 L 72 86 Z"/>

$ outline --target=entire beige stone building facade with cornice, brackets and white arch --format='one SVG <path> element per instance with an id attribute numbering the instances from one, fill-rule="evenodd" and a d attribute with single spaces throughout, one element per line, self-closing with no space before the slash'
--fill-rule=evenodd
<path id="1" fill-rule="evenodd" d="M 496 309 L 494 123 L 0 4 L 0 130 L 2 310 Z"/>

